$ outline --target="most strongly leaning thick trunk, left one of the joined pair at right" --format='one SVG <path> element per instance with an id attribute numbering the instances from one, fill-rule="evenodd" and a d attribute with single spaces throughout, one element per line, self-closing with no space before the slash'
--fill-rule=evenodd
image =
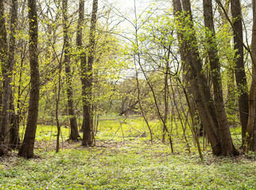
<path id="1" fill-rule="evenodd" d="M 190 2 L 188 0 L 183 0 L 182 6 L 184 9 L 184 17 L 190 17 L 190 21 L 183 23 L 183 25 L 189 25 L 193 33 L 189 39 L 184 38 L 182 35 L 180 40 L 180 44 L 182 44 L 182 51 L 184 51 L 184 70 L 186 71 L 186 78 L 192 89 L 192 95 L 196 103 L 196 108 L 199 112 L 200 120 L 208 135 L 208 140 L 211 143 L 212 153 L 219 155 L 221 154 L 219 126 L 216 119 L 215 108 L 213 105 L 213 100 L 211 99 L 208 82 L 204 76 L 200 55 L 196 47 L 196 35 L 192 24 Z M 182 29 L 179 32 L 180 34 L 186 34 L 186 31 L 182 31 Z"/>

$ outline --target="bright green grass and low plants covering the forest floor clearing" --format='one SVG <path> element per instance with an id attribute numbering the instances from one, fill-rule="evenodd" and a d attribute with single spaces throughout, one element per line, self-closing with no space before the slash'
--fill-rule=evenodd
<path id="1" fill-rule="evenodd" d="M 96 146 L 63 141 L 56 154 L 56 127 L 38 126 L 38 158 L 17 158 L 17 151 L 0 158 L 0 189 L 256 189 L 255 161 L 215 158 L 209 149 L 201 161 L 191 138 L 192 153 L 184 150 L 181 131 L 173 136 L 171 154 L 159 135 L 154 134 L 153 145 L 148 134 L 140 136 L 147 131 L 141 118 L 100 120 L 98 129 Z M 68 128 L 62 135 L 67 139 Z"/>

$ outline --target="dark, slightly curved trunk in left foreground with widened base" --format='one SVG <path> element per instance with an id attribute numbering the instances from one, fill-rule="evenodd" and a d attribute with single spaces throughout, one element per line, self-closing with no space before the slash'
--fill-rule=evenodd
<path id="1" fill-rule="evenodd" d="M 24 141 L 18 156 L 33 158 L 33 147 L 37 131 L 38 102 L 40 91 L 40 73 L 37 50 L 37 1 L 29 0 L 29 63 L 30 63 L 30 97 L 27 126 L 25 129 Z"/>

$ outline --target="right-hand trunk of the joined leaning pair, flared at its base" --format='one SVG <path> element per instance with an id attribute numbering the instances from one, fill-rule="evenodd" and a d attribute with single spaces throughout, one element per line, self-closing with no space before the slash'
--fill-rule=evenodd
<path id="1" fill-rule="evenodd" d="M 213 13 L 211 0 L 204 0 L 204 25 L 209 30 L 208 41 L 208 58 L 211 66 L 211 78 L 214 89 L 214 101 L 216 116 L 219 124 L 219 137 L 221 142 L 221 151 L 225 156 L 233 156 L 239 154 L 235 149 L 231 139 L 231 131 L 227 121 L 227 115 L 223 102 L 223 89 L 220 74 L 220 63 L 217 51 L 217 44 L 215 44 L 215 29 L 213 23 Z"/>

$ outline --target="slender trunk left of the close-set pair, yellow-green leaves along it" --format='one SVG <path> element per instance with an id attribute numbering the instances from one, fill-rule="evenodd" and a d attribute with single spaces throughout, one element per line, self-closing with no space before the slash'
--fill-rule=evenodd
<path id="1" fill-rule="evenodd" d="M 68 34 L 68 0 L 63 0 L 63 32 L 64 32 L 64 65 L 66 71 L 66 83 L 67 83 L 67 94 L 68 94 L 68 116 L 70 122 L 71 133 L 69 136 L 70 140 L 77 141 L 80 138 L 76 115 L 73 106 L 73 88 L 72 88 L 72 73 L 70 67 L 70 36 Z"/>

